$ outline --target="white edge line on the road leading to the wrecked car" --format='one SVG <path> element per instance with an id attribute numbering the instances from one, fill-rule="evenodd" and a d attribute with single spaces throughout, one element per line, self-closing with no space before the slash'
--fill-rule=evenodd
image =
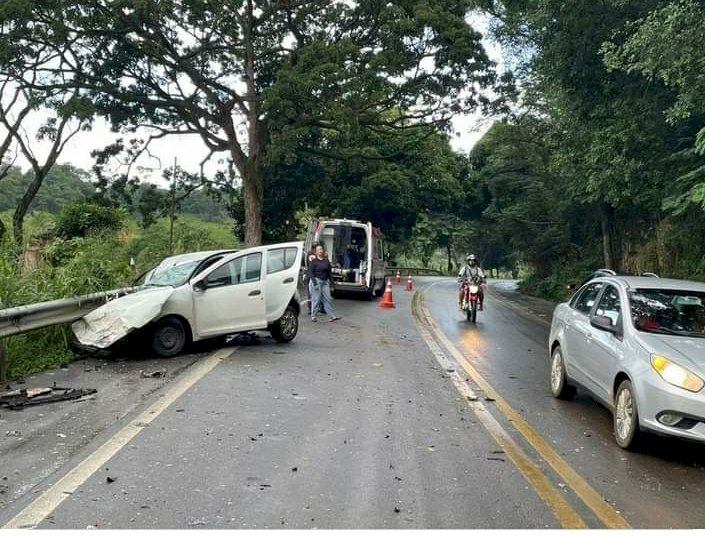
<path id="1" fill-rule="evenodd" d="M 39 525 L 69 495 L 85 483 L 91 475 L 134 439 L 146 425 L 159 417 L 171 404 L 193 387 L 196 382 L 218 366 L 224 359 L 230 357 L 236 350 L 237 348 L 223 348 L 193 364 L 159 400 L 116 432 L 97 450 L 84 458 L 76 467 L 13 517 L 2 529 L 26 529 L 35 528 Z"/>

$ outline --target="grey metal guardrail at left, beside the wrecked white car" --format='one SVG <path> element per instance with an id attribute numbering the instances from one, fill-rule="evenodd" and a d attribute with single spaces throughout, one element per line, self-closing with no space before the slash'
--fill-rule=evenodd
<path id="1" fill-rule="evenodd" d="M 2 339 L 41 328 L 78 320 L 104 303 L 135 292 L 140 287 L 126 287 L 96 292 L 75 298 L 21 305 L 0 310 L 0 382 L 7 380 L 7 363 Z"/>

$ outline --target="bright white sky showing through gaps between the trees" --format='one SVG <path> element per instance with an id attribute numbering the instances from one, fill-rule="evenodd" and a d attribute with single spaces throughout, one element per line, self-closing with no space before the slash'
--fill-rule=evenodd
<path id="1" fill-rule="evenodd" d="M 473 14 L 468 18 L 473 27 L 480 31 L 484 36 L 488 33 L 488 19 L 485 16 Z M 487 37 L 483 39 L 485 48 L 495 62 L 501 66 L 502 51 L 496 42 L 491 41 Z M 30 119 L 30 118 L 28 118 Z M 33 133 L 41 125 L 44 118 L 39 114 L 31 117 L 27 121 L 26 131 L 28 137 L 33 138 Z M 453 131 L 451 132 L 451 146 L 458 152 L 467 153 L 473 145 L 482 137 L 482 135 L 490 127 L 490 120 L 482 117 L 478 113 L 458 115 L 453 121 Z M 66 146 L 64 152 L 59 158 L 61 164 L 71 164 L 75 167 L 90 170 L 93 167 L 94 159 L 91 152 L 114 142 L 119 134 L 111 132 L 110 126 L 102 119 L 96 120 L 93 128 L 89 132 L 81 132 L 76 135 Z M 38 156 L 45 152 L 46 146 L 37 144 L 32 139 L 33 146 L 36 146 Z M 183 169 L 191 172 L 198 172 L 200 162 L 208 154 L 200 137 L 196 135 L 189 136 L 170 136 L 161 140 L 156 140 L 152 143 L 150 153 L 152 157 L 143 157 L 139 165 L 144 169 L 141 174 L 147 180 L 155 183 L 163 183 L 161 175 L 164 169 L 174 165 L 176 159 L 178 165 Z M 206 166 L 206 173 L 212 173 L 217 169 L 224 169 L 225 153 L 214 155 L 211 162 Z M 18 159 L 17 165 L 23 169 L 28 168 L 26 160 Z"/>

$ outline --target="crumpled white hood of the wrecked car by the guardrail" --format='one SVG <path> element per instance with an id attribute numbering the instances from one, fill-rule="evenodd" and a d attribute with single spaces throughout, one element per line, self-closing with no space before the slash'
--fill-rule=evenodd
<path id="1" fill-rule="evenodd" d="M 155 287 L 128 294 L 101 305 L 71 328 L 81 344 L 107 348 L 159 316 L 173 293 L 173 287 Z"/>

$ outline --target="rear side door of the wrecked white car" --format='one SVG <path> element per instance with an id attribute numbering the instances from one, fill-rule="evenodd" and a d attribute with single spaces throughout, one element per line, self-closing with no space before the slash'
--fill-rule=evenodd
<path id="1" fill-rule="evenodd" d="M 281 317 L 296 292 L 302 255 L 301 243 L 278 244 L 266 249 L 265 309 L 268 323 Z"/>

